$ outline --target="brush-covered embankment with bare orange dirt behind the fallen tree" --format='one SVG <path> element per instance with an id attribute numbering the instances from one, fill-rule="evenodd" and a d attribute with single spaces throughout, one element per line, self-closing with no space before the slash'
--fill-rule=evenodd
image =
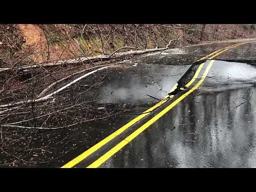
<path id="1" fill-rule="evenodd" d="M 202 25 L 169 25 L 202 30 Z M 159 25 L 0 25 L 0 57 L 5 67 L 47 60 L 110 54 L 120 47 L 139 49 L 185 46 L 201 42 L 256 37 L 256 31 L 242 25 L 206 25 L 200 31 Z M 127 49 L 122 50 L 127 51 Z"/>

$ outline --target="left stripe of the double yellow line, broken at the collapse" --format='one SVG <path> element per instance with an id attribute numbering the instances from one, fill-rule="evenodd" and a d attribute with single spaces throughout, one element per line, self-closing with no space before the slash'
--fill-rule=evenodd
<path id="1" fill-rule="evenodd" d="M 234 46 L 234 45 L 233 45 Z M 223 50 L 223 49 L 221 49 Z M 213 53 L 216 53 L 220 50 L 217 50 Z M 209 54 L 209 55 L 212 55 Z M 209 57 L 209 55 L 206 55 L 205 57 Z M 205 58 L 204 57 L 204 58 Z M 200 69 L 201 70 L 201 69 Z M 198 71 L 198 69 L 197 69 Z M 197 73 L 196 71 L 196 73 Z M 199 74 L 199 72 L 198 72 Z M 175 89 L 177 89 L 178 83 L 176 83 L 173 87 L 172 87 L 172 91 L 174 91 Z M 147 116 L 150 114 L 151 111 L 153 111 L 154 109 L 156 109 L 157 107 L 163 105 L 163 103 L 165 103 L 167 101 L 167 98 L 170 97 L 174 97 L 174 95 L 166 95 L 165 98 L 163 99 L 163 101 L 158 102 L 155 106 L 149 108 L 148 110 L 144 111 L 141 115 L 139 115 L 138 117 L 135 117 L 134 119 L 132 119 L 132 121 L 130 121 L 129 123 L 125 124 L 124 126 L 122 126 L 121 128 L 119 128 L 117 131 L 115 131 L 114 133 L 110 134 L 108 137 L 106 137 L 105 139 L 101 140 L 100 142 L 98 142 L 97 144 L 95 144 L 94 146 L 92 146 L 91 148 L 87 149 L 86 151 L 84 151 L 84 153 L 82 153 L 81 155 L 78 155 L 77 157 L 75 157 L 74 159 L 72 159 L 70 162 L 66 163 L 65 165 L 63 165 L 61 168 L 71 168 L 73 166 L 75 166 L 76 164 L 78 164 L 79 162 L 83 161 L 86 157 L 88 157 L 89 155 L 91 155 L 92 153 L 94 153 L 96 150 L 98 150 L 99 148 L 101 148 L 102 146 L 106 145 L 106 143 L 108 143 L 109 141 L 113 140 L 115 137 L 117 137 L 117 135 L 121 134 L 122 132 L 124 132 L 126 129 L 128 129 L 130 126 L 132 126 L 133 124 L 137 123 L 140 119 L 142 119 L 143 117 Z"/>

